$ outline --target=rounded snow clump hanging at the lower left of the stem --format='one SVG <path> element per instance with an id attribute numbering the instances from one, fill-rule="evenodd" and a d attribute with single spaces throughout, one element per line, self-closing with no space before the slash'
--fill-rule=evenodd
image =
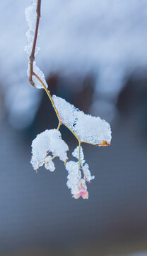
<path id="1" fill-rule="evenodd" d="M 69 147 L 61 139 L 61 133 L 57 129 L 46 130 L 37 135 L 32 143 L 32 159 L 30 163 L 37 170 L 45 164 L 45 168 L 54 171 L 54 165 L 47 154 L 51 153 L 52 157 L 59 156 L 61 161 L 66 161 Z M 48 166 L 49 165 L 49 166 Z"/>

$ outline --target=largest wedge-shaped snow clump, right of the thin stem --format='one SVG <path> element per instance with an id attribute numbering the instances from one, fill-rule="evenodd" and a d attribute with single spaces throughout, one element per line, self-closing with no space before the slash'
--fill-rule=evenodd
<path id="1" fill-rule="evenodd" d="M 100 117 L 84 114 L 83 111 L 71 105 L 61 97 L 53 95 L 54 104 L 57 107 L 61 121 L 68 125 L 81 139 L 81 142 L 89 142 L 105 146 L 111 142 L 110 124 Z"/>

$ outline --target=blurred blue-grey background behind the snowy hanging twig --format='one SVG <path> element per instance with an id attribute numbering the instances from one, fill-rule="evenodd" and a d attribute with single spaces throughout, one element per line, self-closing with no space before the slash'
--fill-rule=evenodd
<path id="1" fill-rule="evenodd" d="M 36 61 L 50 92 L 112 127 L 111 146 L 83 145 L 87 201 L 58 159 L 54 173 L 30 165 L 32 140 L 58 122 L 26 75 L 28 5 L 0 1 L 0 255 L 146 256 L 147 1 L 42 0 Z"/>

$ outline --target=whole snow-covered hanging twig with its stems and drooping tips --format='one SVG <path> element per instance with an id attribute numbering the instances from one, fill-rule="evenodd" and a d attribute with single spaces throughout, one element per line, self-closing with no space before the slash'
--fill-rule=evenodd
<path id="1" fill-rule="evenodd" d="M 32 158 L 30 163 L 33 165 L 33 169 L 36 173 L 37 169 L 43 165 L 45 169 L 54 171 L 55 166 L 52 160 L 58 156 L 61 161 L 64 161 L 65 168 L 68 171 L 68 181 L 66 184 L 68 188 L 71 189 L 73 197 L 76 199 L 79 197 L 88 199 L 86 181 L 90 183 L 90 180 L 93 180 L 95 177 L 91 176 L 89 166 L 84 160 L 81 143 L 95 146 L 110 145 L 110 124 L 100 119 L 100 117 L 85 114 L 61 97 L 51 95 L 49 90 L 47 90 L 48 85 L 45 81 L 45 75 L 35 64 L 40 8 L 41 0 L 33 0 L 32 5 L 25 9 L 26 20 L 29 25 L 29 29 L 26 33 L 28 44 L 25 48 L 29 56 L 28 80 L 30 84 L 37 89 L 45 90 L 57 114 L 59 123 L 57 129 L 46 129 L 44 132 L 37 134 L 37 137 L 32 142 Z M 67 161 L 69 146 L 61 139 L 61 132 L 59 132 L 59 128 L 62 124 L 69 129 L 78 140 L 78 146 L 76 146 L 76 149 L 74 149 L 72 153 L 73 157 L 77 159 L 76 161 Z"/>

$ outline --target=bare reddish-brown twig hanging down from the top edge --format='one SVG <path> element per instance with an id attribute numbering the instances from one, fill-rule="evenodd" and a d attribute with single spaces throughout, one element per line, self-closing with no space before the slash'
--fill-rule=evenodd
<path id="1" fill-rule="evenodd" d="M 30 74 L 29 74 L 29 82 L 31 85 L 35 86 L 33 82 L 33 62 L 35 60 L 35 48 L 36 48 L 36 42 L 37 42 L 37 33 L 38 33 L 38 28 L 39 28 L 39 23 L 40 23 L 40 9 L 41 9 L 41 0 L 37 0 L 37 18 L 36 18 L 36 27 L 35 27 L 35 36 L 34 36 L 34 41 L 33 41 L 33 48 L 30 54 Z"/>

